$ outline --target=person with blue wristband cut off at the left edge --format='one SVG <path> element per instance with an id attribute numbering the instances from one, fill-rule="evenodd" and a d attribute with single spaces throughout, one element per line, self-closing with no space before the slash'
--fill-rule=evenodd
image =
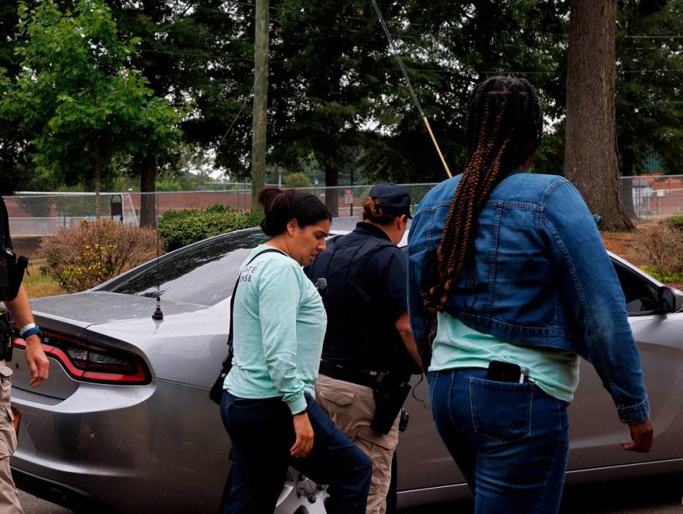
<path id="1" fill-rule="evenodd" d="M 43 351 L 41 329 L 33 322 L 28 296 L 21 285 L 26 259 L 16 259 L 9 236 L 9 215 L 0 197 L 0 301 L 14 316 L 21 337 L 26 340 L 26 363 L 31 373 L 31 387 L 41 385 L 48 378 L 50 362 Z M 23 261 L 22 261 L 23 259 Z M 22 514 L 18 493 L 9 467 L 9 458 L 16 449 L 14 414 L 11 411 L 10 391 L 12 368 L 5 363 L 11 356 L 11 328 L 6 313 L 0 314 L 0 513 Z"/>

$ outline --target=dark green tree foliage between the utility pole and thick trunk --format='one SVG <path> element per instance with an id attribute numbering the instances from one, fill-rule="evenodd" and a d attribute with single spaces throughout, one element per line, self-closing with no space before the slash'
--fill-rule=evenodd
<path id="1" fill-rule="evenodd" d="M 388 29 L 452 171 L 464 161 L 472 86 L 514 73 L 541 91 L 546 112 L 563 109 L 566 4 L 379 1 Z M 445 177 L 370 1 L 281 0 L 272 50 L 272 157 L 313 151 L 326 185 L 356 159 L 371 181 Z M 354 154 L 354 149 L 360 152 Z M 546 162 L 561 154 L 546 152 Z"/>

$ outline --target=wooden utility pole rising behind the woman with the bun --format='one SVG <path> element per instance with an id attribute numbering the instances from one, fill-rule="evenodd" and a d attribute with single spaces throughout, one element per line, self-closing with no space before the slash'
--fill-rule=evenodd
<path id="1" fill-rule="evenodd" d="M 265 132 L 268 122 L 268 26 L 269 0 L 256 0 L 254 41 L 254 109 L 251 134 L 251 208 L 265 186 Z"/>

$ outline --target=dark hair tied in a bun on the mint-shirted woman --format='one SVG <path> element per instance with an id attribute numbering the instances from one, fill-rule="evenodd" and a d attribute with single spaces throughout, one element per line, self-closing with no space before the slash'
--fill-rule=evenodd
<path id="1" fill-rule="evenodd" d="M 271 237 L 285 232 L 290 220 L 297 220 L 300 227 L 332 220 L 324 203 L 309 193 L 294 189 L 264 188 L 258 193 L 258 203 L 263 205 L 261 228 Z"/>

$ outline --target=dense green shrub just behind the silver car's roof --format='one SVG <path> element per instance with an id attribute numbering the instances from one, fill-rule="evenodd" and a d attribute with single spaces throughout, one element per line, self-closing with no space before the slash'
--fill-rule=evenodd
<path id="1" fill-rule="evenodd" d="M 262 216 L 258 211 L 243 213 L 228 205 L 216 203 L 204 210 L 167 210 L 159 218 L 158 230 L 164 240 L 164 247 L 170 252 L 206 237 L 255 227 Z"/>

